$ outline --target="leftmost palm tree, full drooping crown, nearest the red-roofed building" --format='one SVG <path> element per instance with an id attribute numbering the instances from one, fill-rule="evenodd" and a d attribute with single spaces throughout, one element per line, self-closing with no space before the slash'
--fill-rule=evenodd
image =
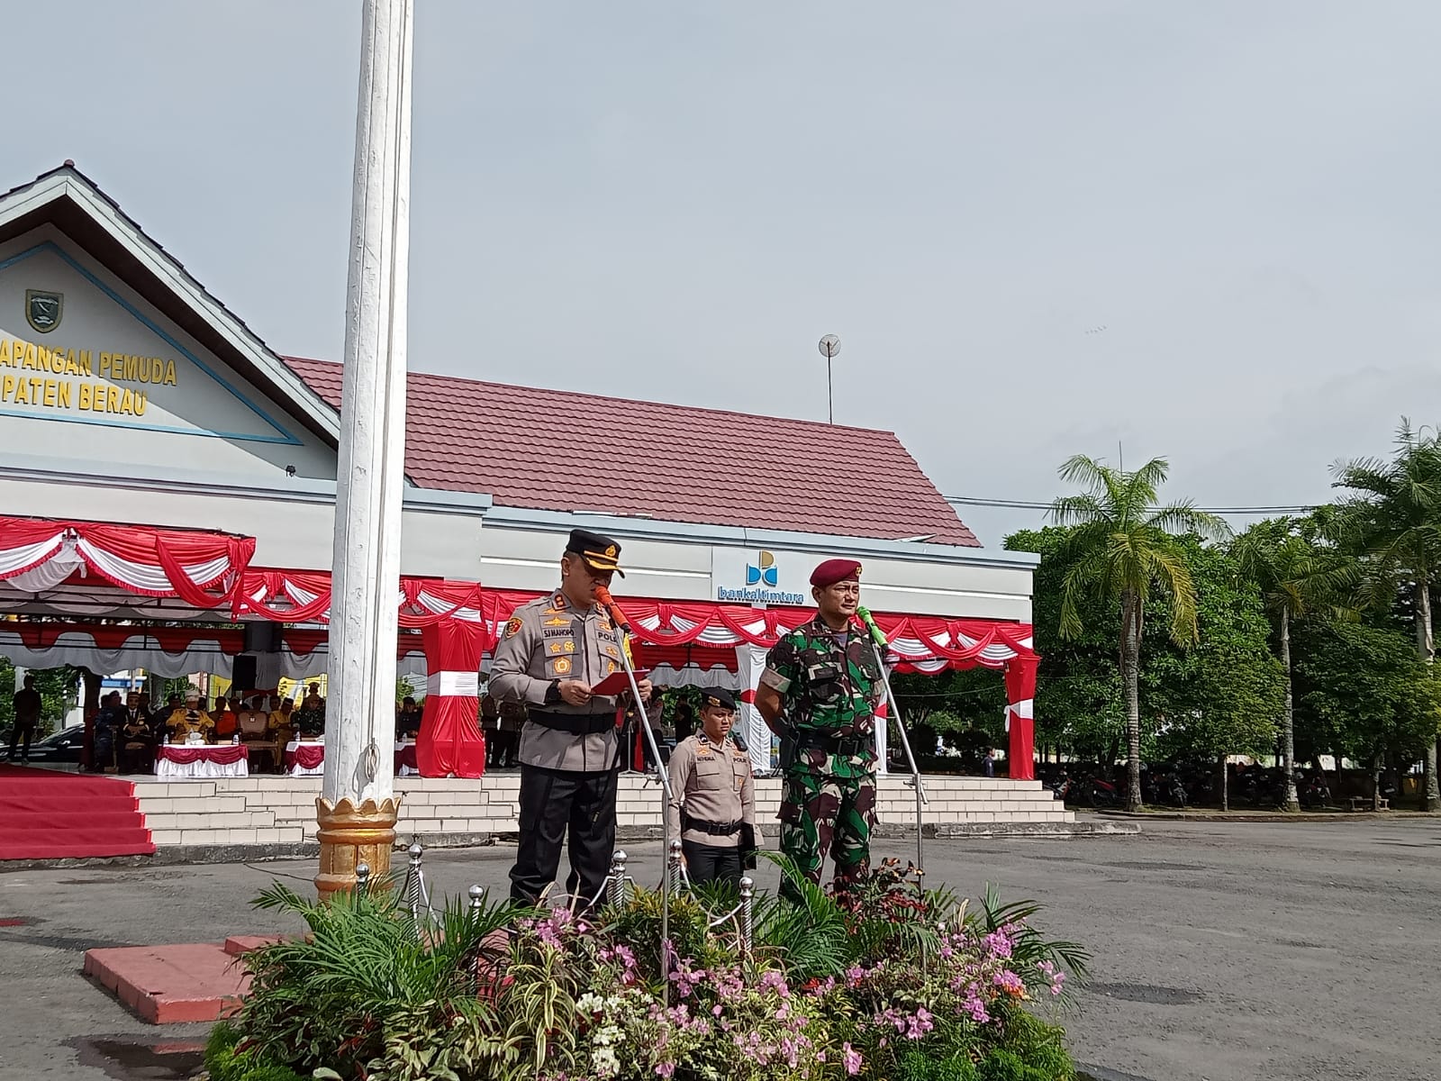
<path id="1" fill-rule="evenodd" d="M 1125 688 L 1125 739 L 1130 783 L 1125 806 L 1141 806 L 1141 631 L 1153 591 L 1170 598 L 1170 636 L 1177 646 L 1197 639 L 1196 590 L 1174 538 L 1221 538 L 1225 523 L 1189 503 L 1156 506 L 1156 491 L 1170 471 L 1151 458 L 1134 473 L 1078 454 L 1061 467 L 1061 480 L 1087 489 L 1050 504 L 1050 516 L 1071 535 L 1061 549 L 1069 569 L 1062 579 L 1061 637 L 1081 634 L 1076 604 L 1085 594 L 1121 605 L 1121 680 Z"/>

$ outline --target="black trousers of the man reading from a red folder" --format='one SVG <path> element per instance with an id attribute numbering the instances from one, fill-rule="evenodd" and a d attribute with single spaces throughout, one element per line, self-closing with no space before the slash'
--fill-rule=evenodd
<path id="1" fill-rule="evenodd" d="M 555 882 L 561 845 L 569 835 L 565 892 L 584 911 L 601 892 L 615 853 L 615 770 L 576 773 L 520 767 L 520 846 L 510 869 L 510 897 L 535 904 Z"/>

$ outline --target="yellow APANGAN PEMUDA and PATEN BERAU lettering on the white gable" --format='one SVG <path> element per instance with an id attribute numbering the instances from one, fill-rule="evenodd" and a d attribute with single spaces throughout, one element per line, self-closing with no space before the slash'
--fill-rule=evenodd
<path id="1" fill-rule="evenodd" d="M 98 363 L 97 363 L 98 360 Z M 23 372 L 45 372 L 27 376 Z M 137 383 L 138 386 L 117 386 Z M 0 337 L 0 404 L 42 409 L 144 417 L 144 386 L 174 386 L 176 362 L 160 356 L 91 349 L 48 349 L 17 337 Z"/>

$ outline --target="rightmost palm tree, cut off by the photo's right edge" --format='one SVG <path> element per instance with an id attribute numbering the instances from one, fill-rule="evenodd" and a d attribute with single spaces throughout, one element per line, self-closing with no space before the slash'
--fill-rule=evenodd
<path id="1" fill-rule="evenodd" d="M 1342 525 L 1369 559 L 1370 575 L 1360 600 L 1389 605 L 1401 582 L 1411 582 L 1417 656 L 1435 660 L 1431 633 L 1431 585 L 1441 568 L 1441 444 L 1437 431 L 1417 430 L 1402 418 L 1396 453 L 1359 458 L 1336 467 L 1336 487 L 1350 489 Z M 1425 747 L 1424 810 L 1441 809 L 1437 786 L 1437 741 Z"/>

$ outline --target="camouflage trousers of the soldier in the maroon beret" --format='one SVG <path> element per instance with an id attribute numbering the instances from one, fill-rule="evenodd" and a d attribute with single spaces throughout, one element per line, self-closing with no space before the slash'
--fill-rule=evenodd
<path id="1" fill-rule="evenodd" d="M 876 777 L 787 773 L 781 787 L 781 852 L 811 882 L 830 855 L 836 888 L 846 889 L 870 871 L 870 830 L 876 824 Z M 782 894 L 791 892 L 782 884 Z"/>

